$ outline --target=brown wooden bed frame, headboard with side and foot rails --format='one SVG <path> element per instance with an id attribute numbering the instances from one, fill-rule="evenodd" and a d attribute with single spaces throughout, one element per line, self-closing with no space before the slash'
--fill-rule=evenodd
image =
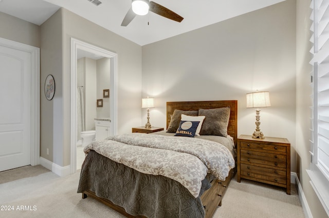
<path id="1" fill-rule="evenodd" d="M 171 115 L 175 109 L 178 110 L 198 110 L 202 109 L 212 109 L 212 108 L 222 108 L 230 107 L 230 120 L 227 128 L 228 134 L 234 138 L 234 145 L 236 148 L 236 138 L 237 138 L 237 101 L 198 101 L 198 102 L 167 102 L 167 128 L 170 123 Z M 236 159 L 236 158 L 235 158 Z M 236 160 L 235 160 L 236 163 Z M 225 181 L 214 180 L 211 183 L 211 188 L 206 190 L 200 197 L 206 211 L 206 218 L 212 217 L 217 206 L 222 205 L 222 199 L 225 194 L 226 188 L 228 187 L 232 177 L 236 172 L 236 165 L 231 169 L 229 175 L 226 177 Z M 82 193 L 82 198 L 85 199 L 87 196 L 93 197 L 94 199 L 100 201 L 101 203 L 107 205 L 108 207 L 118 211 L 119 213 L 125 215 L 129 218 L 147 218 L 142 215 L 133 216 L 126 213 L 124 208 L 113 204 L 107 199 L 96 196 L 95 192 L 84 191 Z"/>

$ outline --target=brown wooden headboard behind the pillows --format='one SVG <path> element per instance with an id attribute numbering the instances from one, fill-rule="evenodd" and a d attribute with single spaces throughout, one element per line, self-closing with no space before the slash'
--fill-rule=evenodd
<path id="1" fill-rule="evenodd" d="M 236 147 L 237 139 L 237 101 L 201 101 L 201 102 L 167 102 L 167 129 L 170 124 L 170 117 L 173 115 L 174 110 L 199 110 L 223 108 L 230 106 L 230 120 L 227 127 L 227 133 L 234 138 Z"/>

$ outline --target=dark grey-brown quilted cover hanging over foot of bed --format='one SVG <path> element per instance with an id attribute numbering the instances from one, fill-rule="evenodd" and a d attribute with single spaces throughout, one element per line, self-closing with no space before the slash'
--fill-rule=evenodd
<path id="1" fill-rule="evenodd" d="M 200 194 L 195 198 L 177 181 L 143 174 L 92 150 L 82 165 L 78 193 L 93 191 L 131 215 L 202 218 L 205 210 L 200 196 L 210 188 L 209 181 L 203 181 Z"/>

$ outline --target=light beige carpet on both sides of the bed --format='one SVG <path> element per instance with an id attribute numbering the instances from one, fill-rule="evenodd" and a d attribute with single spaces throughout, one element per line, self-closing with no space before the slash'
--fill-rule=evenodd
<path id="1" fill-rule="evenodd" d="M 33 171 L 32 168 L 35 167 L 24 170 Z M 9 175 L 15 174 L 15 170 L 2 172 L 0 176 L 8 177 L 7 181 L 10 181 Z M 124 218 L 90 197 L 81 199 L 81 194 L 77 193 L 80 172 L 59 177 L 46 169 L 40 170 L 43 173 L 0 184 L 0 206 L 13 208 L 13 211 L 0 210 L 0 217 Z M 296 187 L 293 186 L 291 195 L 287 195 L 281 188 L 248 180 L 237 183 L 234 179 L 222 207 L 218 207 L 213 217 L 303 218 L 304 214 Z"/>

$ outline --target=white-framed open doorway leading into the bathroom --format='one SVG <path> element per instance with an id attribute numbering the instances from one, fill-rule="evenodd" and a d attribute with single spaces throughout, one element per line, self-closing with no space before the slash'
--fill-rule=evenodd
<path id="1" fill-rule="evenodd" d="M 79 133 L 95 134 L 95 118 L 108 121 L 108 135 L 116 134 L 116 85 L 117 54 L 71 38 L 71 173 L 84 158 Z"/>

